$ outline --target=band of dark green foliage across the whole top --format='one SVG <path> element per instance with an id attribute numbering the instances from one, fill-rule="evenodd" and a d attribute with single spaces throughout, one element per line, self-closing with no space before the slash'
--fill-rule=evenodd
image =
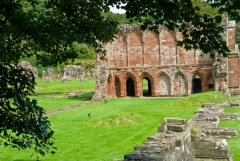
<path id="1" fill-rule="evenodd" d="M 41 62 L 68 62 L 79 56 L 75 42 L 87 44 L 97 53 L 104 54 L 102 44 L 113 39 L 118 23 L 130 21 L 156 32 L 159 25 L 165 25 L 183 33 L 183 40 L 178 45 L 226 56 L 229 50 L 221 36 L 221 15 L 228 14 L 233 19 L 239 19 L 239 2 L 207 2 L 2 0 L 0 61 L 17 62 L 22 56 L 36 55 Z M 127 19 L 124 14 L 110 13 L 109 6 L 113 5 L 125 9 Z"/>

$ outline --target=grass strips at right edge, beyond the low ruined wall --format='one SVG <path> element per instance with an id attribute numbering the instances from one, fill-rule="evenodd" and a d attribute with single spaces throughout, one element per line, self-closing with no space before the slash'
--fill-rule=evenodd
<path id="1" fill-rule="evenodd" d="M 238 116 L 240 116 L 240 109 L 239 108 L 226 108 L 224 112 L 231 112 L 231 113 L 238 113 Z M 240 120 L 224 120 L 220 122 L 219 127 L 226 127 L 226 128 L 236 128 L 238 131 L 238 134 L 240 134 Z M 234 160 L 238 161 L 240 160 L 240 137 L 233 139 L 227 139 L 230 152 L 234 155 Z"/>

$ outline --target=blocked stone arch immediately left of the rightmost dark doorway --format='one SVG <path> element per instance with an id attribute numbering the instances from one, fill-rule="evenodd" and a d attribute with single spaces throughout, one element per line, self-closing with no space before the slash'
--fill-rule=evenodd
<path id="1" fill-rule="evenodd" d="M 183 74 L 183 72 L 178 71 L 175 74 L 175 81 L 174 81 L 174 87 L 177 95 L 187 95 L 188 93 L 188 83 L 186 76 Z"/>

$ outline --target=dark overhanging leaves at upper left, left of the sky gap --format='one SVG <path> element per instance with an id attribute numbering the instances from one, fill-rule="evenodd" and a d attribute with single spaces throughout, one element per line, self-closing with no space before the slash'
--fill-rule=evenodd
<path id="1" fill-rule="evenodd" d="M 2 0 L 0 9 L 1 62 L 31 55 L 51 64 L 67 62 L 78 56 L 74 42 L 101 52 L 101 43 L 112 40 L 117 28 L 102 16 L 109 8 L 98 0 Z"/>

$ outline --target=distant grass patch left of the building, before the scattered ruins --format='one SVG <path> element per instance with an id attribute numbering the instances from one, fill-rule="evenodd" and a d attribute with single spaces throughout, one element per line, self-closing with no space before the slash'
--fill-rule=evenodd
<path id="1" fill-rule="evenodd" d="M 36 99 L 38 105 L 46 111 L 83 104 L 90 102 L 94 94 L 94 82 L 94 79 L 85 82 L 72 79 L 62 83 L 61 80 L 54 79 L 51 83 L 45 83 L 44 80 L 37 79 L 35 93 L 30 98 Z M 76 93 L 76 97 L 69 97 L 71 92 Z"/>

